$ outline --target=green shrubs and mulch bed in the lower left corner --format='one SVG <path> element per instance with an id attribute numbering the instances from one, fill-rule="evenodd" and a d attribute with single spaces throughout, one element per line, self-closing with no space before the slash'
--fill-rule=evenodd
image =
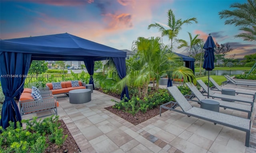
<path id="1" fill-rule="evenodd" d="M 10 122 L 10 126 L 6 129 L 0 127 L 1 153 L 80 151 L 69 131 L 63 128 L 64 122 L 60 121 L 58 116 L 39 121 L 35 117 L 32 121 L 22 120 L 21 122 L 26 123 L 25 129 L 20 126 L 20 122 L 16 123 L 16 128 L 14 128 L 14 122 Z M 67 139 L 68 142 L 66 142 Z M 70 143 L 73 143 L 72 148 L 68 146 Z"/>

